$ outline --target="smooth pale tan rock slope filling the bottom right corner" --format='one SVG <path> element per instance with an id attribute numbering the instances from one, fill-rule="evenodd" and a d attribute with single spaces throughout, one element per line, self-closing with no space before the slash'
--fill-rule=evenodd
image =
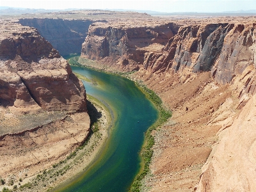
<path id="1" fill-rule="evenodd" d="M 219 134 L 196 191 L 255 191 L 255 94 Z"/>

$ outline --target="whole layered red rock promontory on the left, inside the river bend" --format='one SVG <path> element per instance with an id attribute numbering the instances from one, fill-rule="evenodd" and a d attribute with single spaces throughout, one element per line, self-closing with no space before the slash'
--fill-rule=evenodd
<path id="1" fill-rule="evenodd" d="M 17 181 L 81 145 L 90 118 L 83 83 L 35 28 L 0 29 L 0 175 Z"/>

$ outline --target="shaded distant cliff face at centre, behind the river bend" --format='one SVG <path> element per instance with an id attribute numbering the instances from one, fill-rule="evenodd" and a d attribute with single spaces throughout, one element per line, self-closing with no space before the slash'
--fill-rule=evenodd
<path id="1" fill-rule="evenodd" d="M 177 33 L 177 26 L 172 23 L 152 27 L 104 26 L 92 24 L 89 28 L 81 56 L 90 60 L 110 58 L 112 65 L 118 63 L 122 68 L 138 70 L 149 51 L 161 51 L 168 39 Z M 108 61 L 104 60 L 104 61 Z"/>

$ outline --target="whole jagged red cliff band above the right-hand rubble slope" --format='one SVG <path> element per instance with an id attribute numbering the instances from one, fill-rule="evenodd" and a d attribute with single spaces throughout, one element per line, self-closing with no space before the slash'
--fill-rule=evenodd
<path id="1" fill-rule="evenodd" d="M 254 25 L 243 24 L 181 27 L 163 52 L 145 54 L 144 68 L 152 72 L 185 67 L 192 72 L 211 71 L 218 83 L 230 83 L 255 62 L 254 29 Z"/>

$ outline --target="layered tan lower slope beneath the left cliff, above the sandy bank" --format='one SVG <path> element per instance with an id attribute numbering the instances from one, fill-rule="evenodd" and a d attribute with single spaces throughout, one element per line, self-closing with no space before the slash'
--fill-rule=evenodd
<path id="1" fill-rule="evenodd" d="M 36 121 L 40 121 L 40 116 Z M 83 112 L 65 115 L 28 131 L 0 136 L 1 177 L 12 173 L 19 179 L 51 168 L 88 138 L 89 125 L 90 118 Z"/>

